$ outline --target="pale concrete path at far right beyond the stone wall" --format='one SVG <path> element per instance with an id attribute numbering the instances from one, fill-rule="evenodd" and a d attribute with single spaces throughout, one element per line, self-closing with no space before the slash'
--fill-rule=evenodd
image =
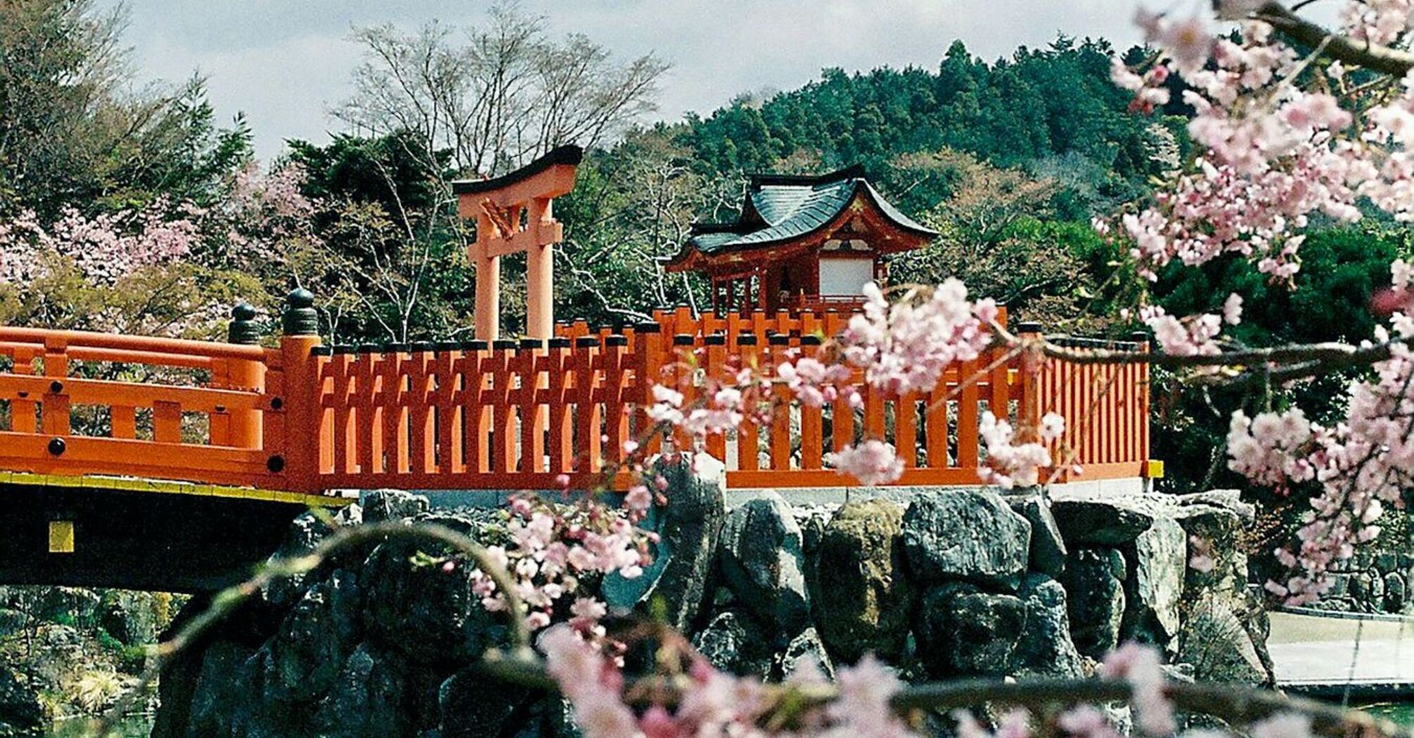
<path id="1" fill-rule="evenodd" d="M 1414 689 L 1414 618 L 1353 619 L 1273 612 L 1267 649 L 1281 686 Z"/>

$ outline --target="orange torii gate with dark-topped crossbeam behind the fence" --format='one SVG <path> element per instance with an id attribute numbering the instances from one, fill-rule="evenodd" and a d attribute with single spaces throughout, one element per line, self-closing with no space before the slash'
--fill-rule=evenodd
<path id="1" fill-rule="evenodd" d="M 553 249 L 564 240 L 553 204 L 574 189 L 574 171 L 583 158 L 580 147 L 561 146 L 510 174 L 452 182 L 457 212 L 477 219 L 469 257 L 477 266 L 478 339 L 501 336 L 501 257 L 519 252 L 526 253 L 526 336 L 553 338 Z"/>

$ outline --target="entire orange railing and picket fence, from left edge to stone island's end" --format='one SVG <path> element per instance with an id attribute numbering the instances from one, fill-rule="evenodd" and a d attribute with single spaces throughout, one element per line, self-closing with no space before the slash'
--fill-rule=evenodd
<path id="1" fill-rule="evenodd" d="M 0 471 L 110 474 L 264 489 L 594 486 L 646 437 L 653 382 L 687 402 L 707 376 L 769 368 L 837 335 L 847 312 L 693 317 L 631 328 L 567 324 L 550 341 L 279 348 L 0 328 Z M 1075 342 L 1082 351 L 1085 342 Z M 134 370 L 136 369 L 136 370 Z M 976 485 L 981 413 L 1068 420 L 1058 481 L 1144 476 L 1148 368 L 1048 362 L 1007 349 L 950 368 L 928 394 L 855 376 L 863 407 L 806 407 L 778 390 L 761 427 L 706 438 L 728 486 L 848 486 L 829 454 L 894 444 L 899 485 Z M 686 438 L 676 438 L 682 448 Z M 1080 475 L 1073 465 L 1083 468 Z M 612 486 L 626 488 L 626 474 Z"/>

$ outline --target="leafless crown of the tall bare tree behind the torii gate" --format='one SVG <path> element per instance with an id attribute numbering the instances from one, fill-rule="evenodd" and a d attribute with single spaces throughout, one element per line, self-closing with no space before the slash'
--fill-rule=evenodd
<path id="1" fill-rule="evenodd" d="M 592 147 L 655 109 L 667 65 L 653 55 L 619 64 L 580 34 L 549 38 L 543 16 L 516 4 L 491 10 L 457 42 L 438 23 L 406 34 L 365 27 L 354 95 L 334 115 L 361 131 L 410 131 L 414 154 L 438 170 L 450 153 L 460 175 L 519 167 L 550 148 Z"/>

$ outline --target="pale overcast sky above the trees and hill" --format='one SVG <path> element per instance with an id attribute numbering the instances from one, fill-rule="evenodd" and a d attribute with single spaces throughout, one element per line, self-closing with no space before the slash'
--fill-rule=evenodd
<path id="1" fill-rule="evenodd" d="M 701 113 L 741 92 L 790 89 L 826 66 L 933 68 L 953 40 L 994 59 L 1056 33 L 1137 41 L 1137 0 L 523 0 L 553 33 L 580 31 L 626 58 L 673 68 L 659 117 Z M 222 122 L 243 110 L 263 158 L 286 139 L 324 141 L 348 89 L 355 25 L 477 24 L 491 0 L 129 0 L 143 76 L 208 78 Z"/>

